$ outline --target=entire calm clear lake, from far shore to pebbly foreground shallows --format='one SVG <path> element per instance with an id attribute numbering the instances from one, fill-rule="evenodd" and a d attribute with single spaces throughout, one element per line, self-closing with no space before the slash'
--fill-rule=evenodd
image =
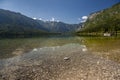
<path id="1" fill-rule="evenodd" d="M 1 80 L 119 80 L 119 63 L 119 37 L 0 39 Z"/>

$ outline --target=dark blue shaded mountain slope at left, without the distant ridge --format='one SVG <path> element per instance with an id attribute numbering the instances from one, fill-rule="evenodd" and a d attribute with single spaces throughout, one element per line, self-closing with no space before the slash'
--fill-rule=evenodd
<path id="1" fill-rule="evenodd" d="M 0 9 L 0 34 L 45 33 L 47 29 L 20 13 Z"/>

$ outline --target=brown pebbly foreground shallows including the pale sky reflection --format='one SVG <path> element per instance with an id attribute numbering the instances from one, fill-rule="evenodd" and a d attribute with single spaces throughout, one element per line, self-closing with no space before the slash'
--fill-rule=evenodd
<path id="1" fill-rule="evenodd" d="M 120 80 L 119 63 L 85 48 L 79 44 L 45 47 L 0 60 L 0 80 Z"/>

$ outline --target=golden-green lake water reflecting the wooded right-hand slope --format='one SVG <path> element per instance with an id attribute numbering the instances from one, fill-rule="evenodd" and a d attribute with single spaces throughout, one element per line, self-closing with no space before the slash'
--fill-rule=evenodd
<path id="1" fill-rule="evenodd" d="M 120 37 L 87 37 L 84 40 L 91 53 L 120 63 Z"/>

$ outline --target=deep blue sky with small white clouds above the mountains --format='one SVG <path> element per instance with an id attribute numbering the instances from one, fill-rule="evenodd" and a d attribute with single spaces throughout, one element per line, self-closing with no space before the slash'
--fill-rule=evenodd
<path id="1" fill-rule="evenodd" d="M 111 7 L 120 0 L 0 0 L 0 8 L 44 21 L 69 24 L 84 22 L 90 13 Z"/>

